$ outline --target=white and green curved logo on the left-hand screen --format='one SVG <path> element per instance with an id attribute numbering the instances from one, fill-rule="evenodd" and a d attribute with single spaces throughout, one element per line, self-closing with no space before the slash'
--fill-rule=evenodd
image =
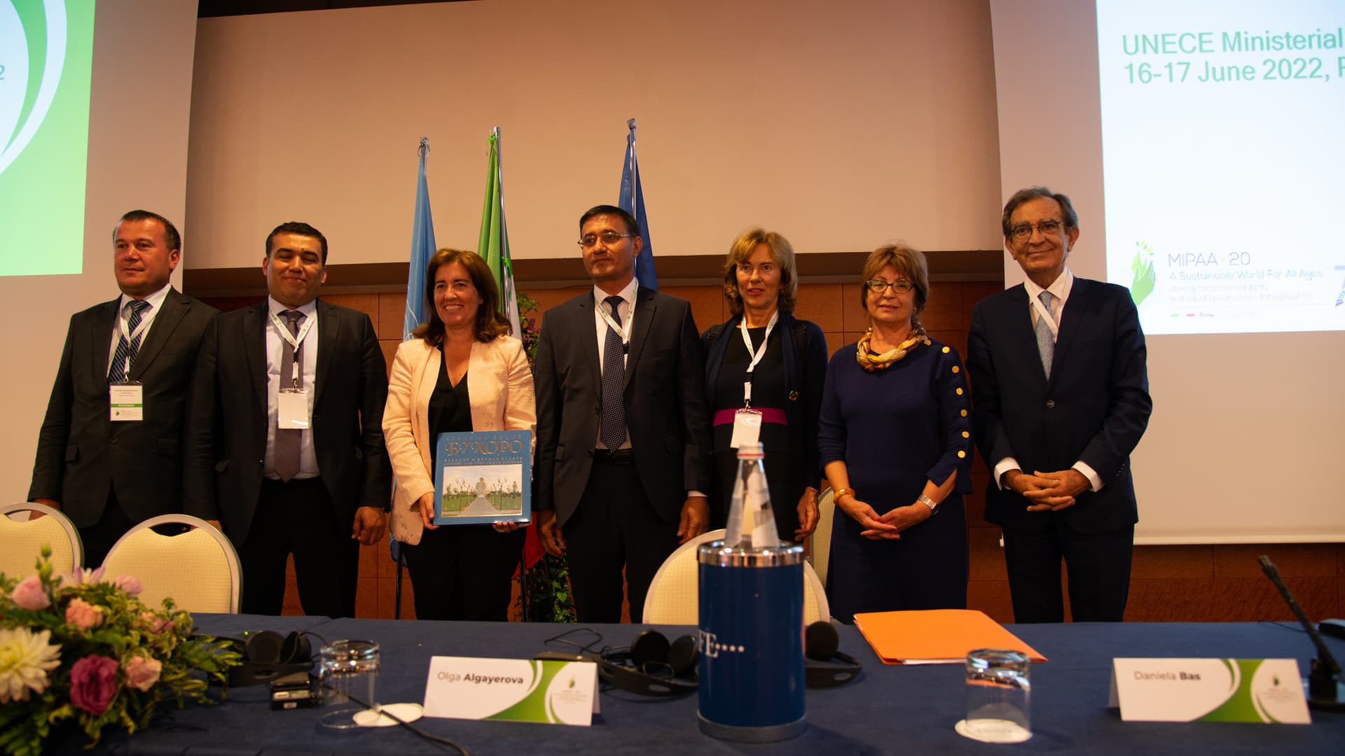
<path id="1" fill-rule="evenodd" d="M 66 62 L 63 0 L 0 0 L 0 174 L 38 133 Z"/>

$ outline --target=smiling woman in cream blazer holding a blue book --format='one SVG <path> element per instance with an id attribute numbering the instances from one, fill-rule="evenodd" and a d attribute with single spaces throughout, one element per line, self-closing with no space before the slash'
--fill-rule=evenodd
<path id="1" fill-rule="evenodd" d="M 441 249 L 425 273 L 429 320 L 397 347 L 383 410 L 393 463 L 393 537 L 402 542 L 417 619 L 506 620 L 519 525 L 434 526 L 434 440 L 460 430 L 537 432 L 533 373 L 508 336 L 476 253 Z"/>

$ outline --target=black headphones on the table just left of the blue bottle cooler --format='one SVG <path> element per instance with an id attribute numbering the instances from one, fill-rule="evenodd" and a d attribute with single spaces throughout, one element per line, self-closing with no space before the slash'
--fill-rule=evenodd
<path id="1" fill-rule="evenodd" d="M 640 695 L 695 693 L 695 638 L 683 635 L 671 643 L 656 630 L 644 630 L 635 643 L 604 651 L 597 674 L 613 686 Z"/>

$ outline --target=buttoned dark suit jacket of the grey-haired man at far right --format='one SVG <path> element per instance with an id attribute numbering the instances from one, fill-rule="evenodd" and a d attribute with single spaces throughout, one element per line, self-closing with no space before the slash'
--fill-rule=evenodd
<path id="1" fill-rule="evenodd" d="M 1013 456 L 1024 472 L 1052 472 L 1083 461 L 1103 487 L 1079 495 L 1059 517 L 1081 533 L 1138 522 L 1130 452 L 1153 409 L 1145 355 L 1139 313 L 1130 292 L 1115 284 L 1075 278 L 1060 315 L 1049 381 L 1022 284 L 978 301 L 967 335 L 967 370 L 972 425 L 986 465 Z M 990 522 L 1046 527 L 1050 518 L 1026 507 L 1018 494 L 994 482 L 986 487 Z"/>

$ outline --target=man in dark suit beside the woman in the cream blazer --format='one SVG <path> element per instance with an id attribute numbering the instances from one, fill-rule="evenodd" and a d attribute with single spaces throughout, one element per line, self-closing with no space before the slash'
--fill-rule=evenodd
<path id="1" fill-rule="evenodd" d="M 266 237 L 262 304 L 206 332 L 191 421 L 188 511 L 238 547 L 242 611 L 278 615 L 295 556 L 308 615 L 355 613 L 359 545 L 383 535 L 387 365 L 369 316 L 317 300 L 327 238 L 308 223 Z"/>

